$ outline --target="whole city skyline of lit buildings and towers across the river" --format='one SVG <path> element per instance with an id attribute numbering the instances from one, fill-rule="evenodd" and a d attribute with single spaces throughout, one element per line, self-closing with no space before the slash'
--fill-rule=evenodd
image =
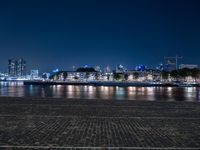
<path id="1" fill-rule="evenodd" d="M 122 65 L 117 65 L 114 70 L 109 66 L 103 70 L 99 66 L 90 68 L 88 66 L 78 68 L 74 71 L 53 70 L 52 73 L 39 74 L 39 70 L 31 70 L 27 74 L 26 61 L 20 59 L 8 60 L 8 73 L 1 74 L 1 80 L 54 80 L 54 81 L 161 81 L 162 71 L 172 71 L 177 69 L 194 69 L 198 65 L 180 64 L 177 65 L 178 57 L 166 57 L 164 65 L 160 64 L 156 69 L 148 69 L 144 65 L 137 66 L 134 70 L 127 70 Z"/>

